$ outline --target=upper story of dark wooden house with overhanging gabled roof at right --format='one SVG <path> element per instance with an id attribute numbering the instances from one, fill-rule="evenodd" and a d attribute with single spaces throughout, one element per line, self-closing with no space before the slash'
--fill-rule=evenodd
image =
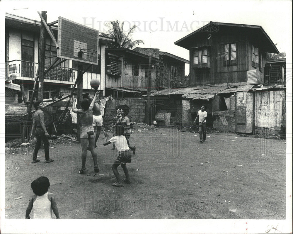
<path id="1" fill-rule="evenodd" d="M 189 50 L 195 86 L 263 84 L 266 53 L 279 53 L 261 26 L 212 21 L 174 44 Z"/>

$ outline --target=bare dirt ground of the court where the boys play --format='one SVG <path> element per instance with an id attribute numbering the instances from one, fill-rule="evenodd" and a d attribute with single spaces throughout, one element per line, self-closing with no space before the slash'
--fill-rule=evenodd
<path id="1" fill-rule="evenodd" d="M 40 176 L 50 180 L 60 218 L 286 218 L 285 140 L 208 133 L 200 144 L 198 133 L 176 128 L 134 131 L 130 143 L 137 153 L 127 164 L 132 183 L 121 188 L 111 186 L 117 152 L 103 140 L 101 135 L 96 175 L 90 152 L 85 174 L 78 173 L 79 143 L 50 140 L 49 164 L 42 149 L 41 162 L 30 163 L 33 143 L 6 143 L 6 218 L 25 218 L 30 183 Z"/>

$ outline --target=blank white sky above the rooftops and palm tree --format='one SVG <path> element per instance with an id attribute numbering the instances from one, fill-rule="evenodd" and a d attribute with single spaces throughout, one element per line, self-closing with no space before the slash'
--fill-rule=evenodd
<path id="1" fill-rule="evenodd" d="M 292 43 L 291 1 L 2 1 L 2 11 L 40 21 L 37 11 L 47 11 L 47 22 L 58 16 L 105 31 L 107 21 L 124 21 L 125 31 L 137 25 L 133 39 L 139 47 L 159 48 L 189 60 L 188 50 L 174 42 L 210 21 L 260 25 L 290 52 Z M 58 3 L 58 4 L 56 4 Z M 23 9 L 24 8 L 24 9 Z M 289 56 L 287 56 L 289 57 Z M 189 73 L 189 65 L 185 74 Z"/>

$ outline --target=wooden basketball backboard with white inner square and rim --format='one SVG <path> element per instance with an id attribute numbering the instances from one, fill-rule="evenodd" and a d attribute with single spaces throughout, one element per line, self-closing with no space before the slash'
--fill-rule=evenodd
<path id="1" fill-rule="evenodd" d="M 58 17 L 57 57 L 98 65 L 98 44 L 98 30 Z M 97 53 L 79 55 L 81 50 L 97 51 Z"/>

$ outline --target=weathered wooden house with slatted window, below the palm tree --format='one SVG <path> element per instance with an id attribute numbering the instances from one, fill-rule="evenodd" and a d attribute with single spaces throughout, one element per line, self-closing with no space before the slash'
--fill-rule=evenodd
<path id="1" fill-rule="evenodd" d="M 113 97 L 139 97 L 147 92 L 148 77 L 151 90 L 156 90 L 159 59 L 153 57 L 149 68 L 149 56 L 134 50 L 106 48 L 106 95 Z"/>

